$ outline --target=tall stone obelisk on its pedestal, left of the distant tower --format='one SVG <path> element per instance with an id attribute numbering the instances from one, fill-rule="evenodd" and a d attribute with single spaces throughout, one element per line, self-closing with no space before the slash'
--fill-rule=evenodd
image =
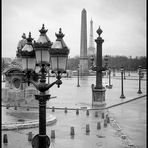
<path id="1" fill-rule="evenodd" d="M 87 57 L 87 17 L 86 10 L 81 13 L 81 43 L 80 43 L 80 75 L 88 75 L 88 57 Z"/>

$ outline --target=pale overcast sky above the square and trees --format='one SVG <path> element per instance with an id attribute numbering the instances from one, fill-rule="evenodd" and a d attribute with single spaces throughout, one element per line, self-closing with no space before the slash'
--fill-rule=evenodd
<path id="1" fill-rule="evenodd" d="M 15 57 L 23 33 L 37 40 L 42 24 L 52 42 L 61 27 L 70 57 L 80 55 L 83 8 L 88 43 L 91 18 L 94 39 L 103 30 L 103 55 L 146 56 L 146 0 L 2 0 L 2 56 Z"/>

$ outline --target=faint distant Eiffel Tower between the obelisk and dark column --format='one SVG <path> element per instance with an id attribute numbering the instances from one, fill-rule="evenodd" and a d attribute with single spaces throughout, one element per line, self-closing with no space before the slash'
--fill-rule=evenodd
<path id="1" fill-rule="evenodd" d="M 90 21 L 90 36 L 89 36 L 89 48 L 87 51 L 87 55 L 95 55 L 95 46 L 94 46 L 94 37 L 93 37 L 93 21 Z"/>

